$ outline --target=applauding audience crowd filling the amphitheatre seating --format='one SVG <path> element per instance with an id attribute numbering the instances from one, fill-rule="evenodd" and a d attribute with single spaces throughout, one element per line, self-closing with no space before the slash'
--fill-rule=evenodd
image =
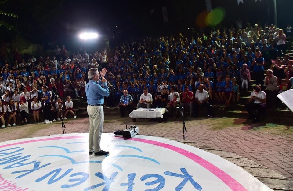
<path id="1" fill-rule="evenodd" d="M 14 64 L 8 60 L 1 63 L 2 127 L 7 115 L 8 125 L 12 119 L 16 124 L 18 114 L 23 123 L 28 113 L 38 122 L 41 111 L 45 122 L 51 123 L 60 119 L 63 108 L 65 117 L 68 113 L 76 117 L 70 99 L 86 96 L 90 68 L 107 69 L 110 96 L 105 97 L 105 105 L 119 106 L 122 117 L 125 108 L 130 112 L 134 107 L 166 107 L 173 115 L 180 105 L 189 108 L 193 117 L 199 107 L 207 107 L 212 117 L 210 103 L 237 103 L 240 93 L 250 90 L 251 80 L 256 86 L 248 110 L 260 110 L 255 104 L 265 104 L 267 96 L 273 100 L 278 92 L 293 86 L 293 61 L 286 54 L 286 35 L 273 25 L 231 26 L 222 31 L 212 29 L 207 34 L 200 31 L 196 38 L 181 33 L 147 37 L 125 41 L 112 53 L 109 59 L 106 50 L 69 55 L 62 45 L 56 46 L 52 55 L 38 59 L 31 55 L 25 60 L 16 49 Z M 271 63 L 266 77 L 265 63 Z M 258 92 L 262 98 L 257 98 Z M 65 99 L 67 104 L 63 107 Z M 253 113 L 250 118 L 257 121 L 259 116 Z"/>

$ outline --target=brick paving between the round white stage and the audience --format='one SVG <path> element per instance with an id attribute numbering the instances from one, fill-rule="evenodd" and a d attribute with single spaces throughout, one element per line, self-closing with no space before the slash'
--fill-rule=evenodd
<path id="1" fill-rule="evenodd" d="M 293 120 L 292 120 L 293 121 Z M 292 124 L 292 121 L 289 124 Z M 134 124 L 131 118 L 105 114 L 104 132 L 112 133 Z M 157 123 L 138 119 L 139 134 L 182 139 L 182 122 Z M 89 132 L 88 118 L 65 120 L 67 133 Z M 293 127 L 269 122 L 246 123 L 241 118 L 192 118 L 186 121 L 185 139 L 226 150 L 256 161 L 293 180 Z M 61 122 L 0 129 L 0 142 L 62 133 Z"/>

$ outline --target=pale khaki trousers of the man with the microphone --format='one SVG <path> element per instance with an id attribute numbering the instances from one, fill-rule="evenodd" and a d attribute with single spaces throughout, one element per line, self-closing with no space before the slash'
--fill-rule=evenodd
<path id="1" fill-rule="evenodd" d="M 89 114 L 89 151 L 99 152 L 104 126 L 104 108 L 88 105 L 87 111 Z"/>

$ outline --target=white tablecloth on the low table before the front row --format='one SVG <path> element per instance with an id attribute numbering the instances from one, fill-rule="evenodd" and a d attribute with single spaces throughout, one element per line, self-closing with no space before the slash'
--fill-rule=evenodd
<path id="1" fill-rule="evenodd" d="M 129 117 L 131 118 L 163 118 L 163 114 L 167 112 L 165 108 L 157 109 L 136 109 L 133 110 Z"/>

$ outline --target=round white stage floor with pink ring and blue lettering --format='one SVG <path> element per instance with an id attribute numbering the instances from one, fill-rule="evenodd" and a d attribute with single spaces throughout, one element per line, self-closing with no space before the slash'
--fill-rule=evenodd
<path id="1" fill-rule="evenodd" d="M 241 167 L 159 137 L 103 133 L 107 156 L 89 156 L 88 133 L 0 143 L 0 191 L 266 191 Z"/>

